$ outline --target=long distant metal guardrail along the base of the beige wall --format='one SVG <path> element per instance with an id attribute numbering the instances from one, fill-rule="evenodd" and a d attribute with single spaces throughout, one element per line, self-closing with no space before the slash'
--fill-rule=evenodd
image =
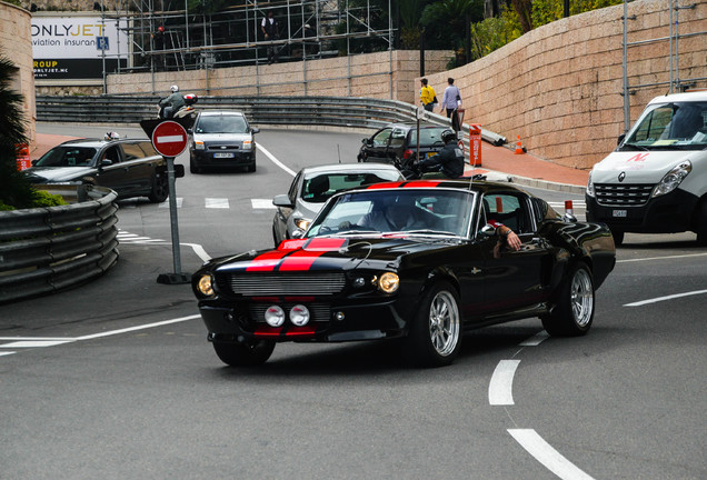
<path id="1" fill-rule="evenodd" d="M 37 120 L 66 123 L 138 123 L 157 117 L 159 97 L 37 97 Z M 197 110 L 242 111 L 256 124 L 329 126 L 378 129 L 391 122 L 416 121 L 417 107 L 398 100 L 350 97 L 199 97 Z M 425 121 L 450 126 L 448 118 L 426 112 Z M 466 129 L 468 131 L 468 127 Z M 481 130 L 492 144 L 506 138 Z M 468 142 L 468 139 L 465 141 Z"/>

